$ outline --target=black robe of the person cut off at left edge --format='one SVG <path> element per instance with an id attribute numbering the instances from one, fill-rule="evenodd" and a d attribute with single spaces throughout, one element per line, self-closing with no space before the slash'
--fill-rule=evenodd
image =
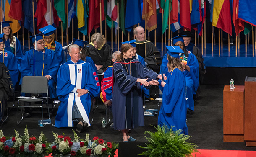
<path id="1" fill-rule="evenodd" d="M 0 121 L 3 121 L 7 98 L 13 94 L 13 85 L 10 73 L 5 64 L 0 62 Z"/>

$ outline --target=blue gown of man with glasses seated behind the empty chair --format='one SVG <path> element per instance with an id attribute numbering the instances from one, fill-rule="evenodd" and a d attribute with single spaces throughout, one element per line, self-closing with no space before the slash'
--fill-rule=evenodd
<path id="1" fill-rule="evenodd" d="M 58 69 L 59 63 L 57 57 L 55 56 L 55 53 L 49 49 L 45 49 L 45 53 L 31 49 L 26 51 L 21 60 L 21 78 L 24 76 L 46 75 L 50 75 L 52 77 L 50 80 L 48 80 L 50 98 L 57 97 L 56 81 Z"/>

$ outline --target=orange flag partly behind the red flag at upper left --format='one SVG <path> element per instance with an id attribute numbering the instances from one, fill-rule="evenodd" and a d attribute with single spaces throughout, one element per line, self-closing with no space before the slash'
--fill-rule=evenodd
<path id="1" fill-rule="evenodd" d="M 16 33 L 18 30 L 21 29 L 21 26 L 18 20 L 15 20 L 8 15 L 10 11 L 11 0 L 3 0 L 2 2 L 3 2 L 2 8 L 4 8 L 3 9 L 4 12 L 2 14 L 3 21 L 7 21 L 7 20 L 13 21 L 13 23 L 10 23 L 10 28 L 12 28 L 13 33 Z"/>

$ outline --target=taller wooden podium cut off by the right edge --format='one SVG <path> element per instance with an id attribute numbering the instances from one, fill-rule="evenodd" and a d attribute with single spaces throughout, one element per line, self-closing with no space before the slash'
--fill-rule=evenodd
<path id="1" fill-rule="evenodd" d="M 256 146 L 256 78 L 246 77 L 244 85 L 244 140 Z"/>

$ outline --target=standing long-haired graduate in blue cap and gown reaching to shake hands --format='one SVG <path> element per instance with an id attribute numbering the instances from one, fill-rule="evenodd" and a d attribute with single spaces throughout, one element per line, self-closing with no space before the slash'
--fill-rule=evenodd
<path id="1" fill-rule="evenodd" d="M 181 129 L 182 133 L 188 135 L 188 127 L 186 124 L 186 102 L 185 102 L 185 75 L 183 65 L 180 63 L 180 55 L 182 52 L 178 46 L 166 46 L 167 52 L 167 68 L 165 73 L 167 80 L 152 80 L 151 85 L 159 84 L 159 88 L 163 91 L 162 106 L 159 111 L 158 124 L 160 126 L 168 126 L 172 130 Z M 177 53 L 174 53 L 177 52 Z"/>

